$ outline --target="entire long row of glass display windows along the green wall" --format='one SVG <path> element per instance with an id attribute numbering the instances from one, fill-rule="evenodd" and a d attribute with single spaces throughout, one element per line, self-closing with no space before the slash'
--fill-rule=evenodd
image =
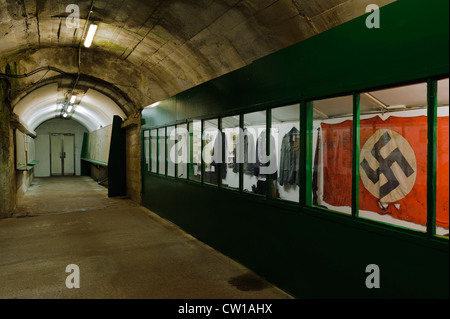
<path id="1" fill-rule="evenodd" d="M 144 130 L 143 143 L 146 173 L 294 203 L 306 196 L 313 207 L 449 238 L 448 78 Z"/>

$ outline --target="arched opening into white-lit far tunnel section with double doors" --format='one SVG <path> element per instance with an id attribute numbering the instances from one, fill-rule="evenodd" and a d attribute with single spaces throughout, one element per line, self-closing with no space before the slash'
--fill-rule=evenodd
<path id="1" fill-rule="evenodd" d="M 131 102 L 119 89 L 83 75 L 57 76 L 10 103 L 17 206 L 35 178 L 89 176 L 110 197 L 127 195 L 124 123 Z"/>

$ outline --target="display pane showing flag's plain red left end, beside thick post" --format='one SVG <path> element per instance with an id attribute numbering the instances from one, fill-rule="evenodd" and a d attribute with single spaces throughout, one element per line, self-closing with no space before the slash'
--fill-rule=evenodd
<path id="1" fill-rule="evenodd" d="M 312 203 L 351 215 L 353 96 L 314 101 Z"/>

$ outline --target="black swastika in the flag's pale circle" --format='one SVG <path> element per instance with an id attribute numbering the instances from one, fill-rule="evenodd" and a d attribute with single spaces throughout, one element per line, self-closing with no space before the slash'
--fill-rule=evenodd
<path id="1" fill-rule="evenodd" d="M 410 177 L 415 173 L 414 169 L 408 163 L 399 148 L 392 151 L 387 158 L 384 158 L 381 155 L 381 149 L 389 144 L 391 140 L 391 136 L 388 132 L 386 132 L 374 145 L 371 153 L 379 163 L 379 167 L 376 170 L 373 170 L 370 167 L 366 159 L 364 159 L 361 163 L 361 167 L 364 169 L 367 177 L 372 181 L 372 183 L 378 183 L 380 181 L 381 174 L 383 174 L 388 180 L 386 184 L 380 187 L 380 199 L 388 196 L 393 190 L 400 186 L 400 182 L 392 171 L 392 165 L 394 163 L 397 163 L 400 166 L 406 177 Z"/>

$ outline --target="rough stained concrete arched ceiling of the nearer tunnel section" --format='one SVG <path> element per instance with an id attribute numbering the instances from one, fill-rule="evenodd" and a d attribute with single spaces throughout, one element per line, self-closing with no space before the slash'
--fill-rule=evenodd
<path id="1" fill-rule="evenodd" d="M 98 24 L 82 48 L 80 72 L 121 90 L 135 108 L 127 116 L 255 59 L 300 42 L 394 0 L 95 0 L 78 1 L 79 28 L 66 25 L 72 0 L 0 0 L 0 67 L 19 74 L 50 65 L 78 72 L 78 48 L 89 22 Z M 40 81 L 20 80 L 17 98 Z M 119 103 L 120 104 L 120 103 Z M 122 107 L 122 106 L 121 106 Z"/>

